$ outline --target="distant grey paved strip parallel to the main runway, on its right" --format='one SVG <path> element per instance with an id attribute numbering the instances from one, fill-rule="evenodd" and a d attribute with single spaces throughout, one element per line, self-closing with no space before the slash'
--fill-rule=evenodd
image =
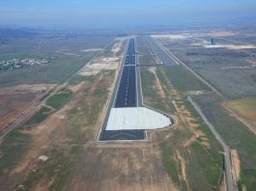
<path id="1" fill-rule="evenodd" d="M 173 60 L 156 44 L 156 41 L 151 37 L 145 38 L 148 44 L 152 47 L 157 57 L 161 60 L 163 66 L 173 66 Z"/>

